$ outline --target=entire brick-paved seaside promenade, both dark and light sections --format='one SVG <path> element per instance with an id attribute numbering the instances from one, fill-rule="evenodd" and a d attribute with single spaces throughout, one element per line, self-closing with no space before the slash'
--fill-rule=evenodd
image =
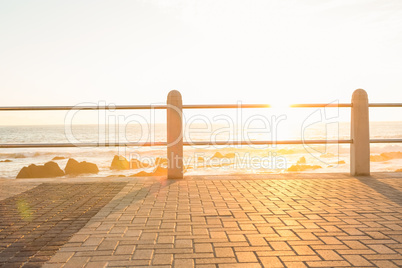
<path id="1" fill-rule="evenodd" d="M 0 267 L 400 267 L 402 173 L 0 179 Z"/>

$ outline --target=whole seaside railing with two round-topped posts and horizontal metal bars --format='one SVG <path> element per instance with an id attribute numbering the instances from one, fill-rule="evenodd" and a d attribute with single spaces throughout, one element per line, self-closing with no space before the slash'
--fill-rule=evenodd
<path id="1" fill-rule="evenodd" d="M 115 110 L 167 110 L 167 142 L 127 143 L 35 143 L 0 144 L 0 148 L 65 148 L 65 147 L 117 147 L 117 146 L 167 146 L 168 178 L 183 178 L 183 146 L 202 145 L 269 145 L 269 144 L 350 144 L 350 174 L 370 175 L 370 143 L 402 143 L 402 139 L 369 138 L 369 107 L 402 107 L 402 103 L 368 103 L 363 89 L 357 89 L 351 103 L 339 104 L 293 104 L 291 108 L 351 108 L 351 138 L 348 140 L 282 140 L 282 141 L 214 141 L 183 142 L 183 109 L 239 109 L 272 108 L 268 104 L 215 104 L 182 105 L 180 92 L 172 90 L 166 105 L 116 105 Z M 0 111 L 60 111 L 60 110 L 106 110 L 107 106 L 15 106 L 0 107 Z"/>

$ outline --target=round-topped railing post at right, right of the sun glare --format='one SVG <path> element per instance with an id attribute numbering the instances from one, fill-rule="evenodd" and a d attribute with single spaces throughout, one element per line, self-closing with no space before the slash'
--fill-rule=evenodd
<path id="1" fill-rule="evenodd" d="M 368 96 L 363 89 L 356 89 L 352 95 L 350 135 L 350 175 L 370 175 L 370 133 Z"/>

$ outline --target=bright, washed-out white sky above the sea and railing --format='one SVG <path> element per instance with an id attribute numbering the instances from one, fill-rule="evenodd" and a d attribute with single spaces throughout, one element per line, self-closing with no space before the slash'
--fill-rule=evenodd
<path id="1" fill-rule="evenodd" d="M 0 106 L 155 104 L 172 89 L 184 104 L 350 102 L 357 88 L 402 103 L 401 48 L 399 0 L 0 0 Z"/>

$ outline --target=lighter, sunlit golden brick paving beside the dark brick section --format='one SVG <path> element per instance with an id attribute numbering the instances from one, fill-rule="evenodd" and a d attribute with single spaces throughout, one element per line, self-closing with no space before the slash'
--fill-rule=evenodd
<path id="1" fill-rule="evenodd" d="M 402 266 L 401 173 L 113 181 L 45 267 Z"/>

